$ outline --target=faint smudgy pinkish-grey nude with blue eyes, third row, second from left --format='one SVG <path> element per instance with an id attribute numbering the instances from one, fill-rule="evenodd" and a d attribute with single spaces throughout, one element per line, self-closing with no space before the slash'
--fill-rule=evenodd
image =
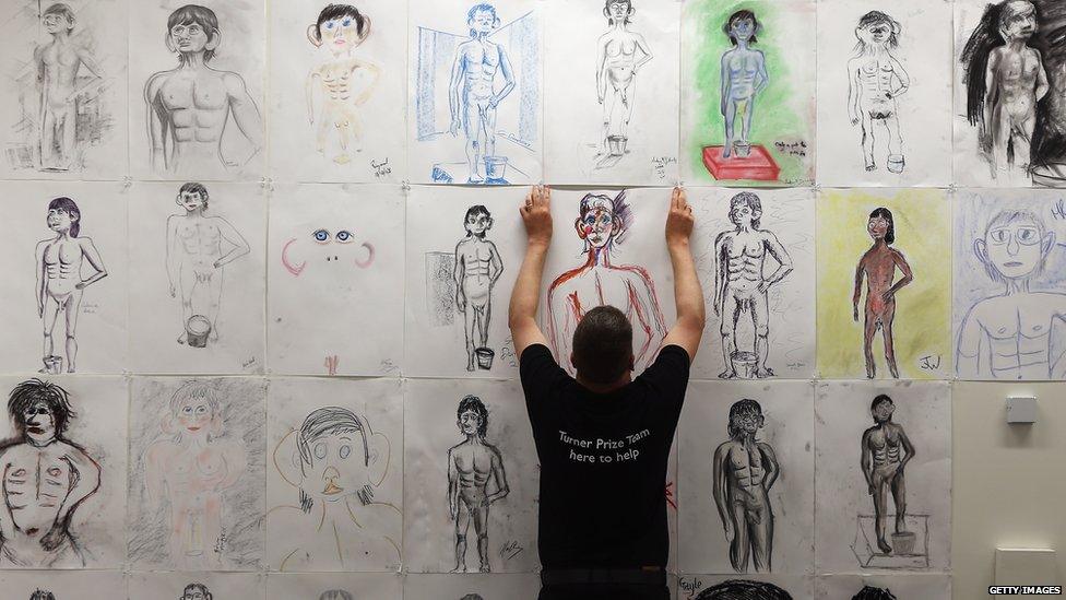
<path id="1" fill-rule="evenodd" d="M 216 549 L 223 537 L 226 490 L 247 467 L 244 448 L 224 438 L 223 399 L 211 384 L 188 383 L 170 397 L 159 435 L 144 455 L 150 506 L 169 510 L 170 564 L 178 568 L 223 566 Z"/>

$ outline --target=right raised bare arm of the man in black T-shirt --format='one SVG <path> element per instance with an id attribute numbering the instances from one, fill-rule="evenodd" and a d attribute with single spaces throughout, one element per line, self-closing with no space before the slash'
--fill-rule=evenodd
<path id="1" fill-rule="evenodd" d="M 707 320 L 703 307 L 703 289 L 696 274 L 696 261 L 689 242 L 692 237 L 692 207 L 685 198 L 685 190 L 674 188 L 666 216 L 666 248 L 674 268 L 674 303 L 677 321 L 663 340 L 663 345 L 676 344 L 688 352 L 688 360 L 696 358 L 703 325 Z"/>

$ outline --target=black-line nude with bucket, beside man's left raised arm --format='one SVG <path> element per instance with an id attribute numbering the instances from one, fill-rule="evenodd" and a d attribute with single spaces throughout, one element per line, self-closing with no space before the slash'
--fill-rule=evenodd
<path id="1" fill-rule="evenodd" d="M 466 210 L 466 237 L 455 245 L 455 307 L 463 314 L 466 337 L 466 370 L 488 369 L 495 352 L 488 348 L 488 325 L 493 317 L 493 286 L 504 273 L 496 244 L 485 238 L 493 215 L 482 204 Z"/>

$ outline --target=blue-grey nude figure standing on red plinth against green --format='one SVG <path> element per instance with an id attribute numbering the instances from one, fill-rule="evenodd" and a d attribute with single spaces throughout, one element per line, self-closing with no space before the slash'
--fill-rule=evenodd
<path id="1" fill-rule="evenodd" d="M 751 122 L 755 98 L 770 83 L 766 56 L 751 48 L 762 25 L 749 10 L 730 15 L 722 31 L 733 47 L 722 54 L 722 116 L 725 117 L 725 148 L 722 157 L 747 157 L 751 151 Z M 741 136 L 736 136 L 736 118 L 741 117 Z"/>

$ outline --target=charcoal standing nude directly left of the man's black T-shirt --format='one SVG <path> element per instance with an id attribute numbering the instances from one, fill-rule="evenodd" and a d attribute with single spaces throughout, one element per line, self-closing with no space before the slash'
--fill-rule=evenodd
<path id="1" fill-rule="evenodd" d="M 488 508 L 507 497 L 507 473 L 496 446 L 485 442 L 488 409 L 481 398 L 466 396 L 459 402 L 457 425 L 466 440 L 448 449 L 448 507 L 455 521 L 455 568 L 466 572 L 466 532 L 471 521 L 477 536 L 478 570 L 489 573 Z M 489 490 L 493 491 L 489 491 Z"/>

